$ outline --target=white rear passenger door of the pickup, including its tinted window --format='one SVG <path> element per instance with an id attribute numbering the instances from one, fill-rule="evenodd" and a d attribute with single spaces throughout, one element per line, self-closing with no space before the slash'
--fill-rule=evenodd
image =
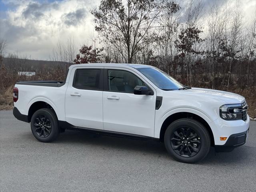
<path id="1" fill-rule="evenodd" d="M 66 90 L 66 121 L 74 126 L 103 130 L 103 67 L 73 68 Z"/>

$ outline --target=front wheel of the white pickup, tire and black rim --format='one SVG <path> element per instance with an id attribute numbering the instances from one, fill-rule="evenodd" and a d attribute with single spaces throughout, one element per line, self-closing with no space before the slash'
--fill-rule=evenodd
<path id="1" fill-rule="evenodd" d="M 168 126 L 164 134 L 164 145 L 174 159 L 195 163 L 206 157 L 211 140 L 204 125 L 194 119 L 182 118 Z"/>

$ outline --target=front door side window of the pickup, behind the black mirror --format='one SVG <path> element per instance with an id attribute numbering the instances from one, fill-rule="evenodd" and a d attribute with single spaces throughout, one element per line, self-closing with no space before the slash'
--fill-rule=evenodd
<path id="1" fill-rule="evenodd" d="M 133 93 L 137 85 L 145 86 L 145 83 L 131 72 L 108 70 L 108 90 Z"/>

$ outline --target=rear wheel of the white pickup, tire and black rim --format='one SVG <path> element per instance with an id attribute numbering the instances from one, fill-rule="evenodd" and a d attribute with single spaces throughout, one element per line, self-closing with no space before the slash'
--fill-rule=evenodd
<path id="1" fill-rule="evenodd" d="M 34 112 L 30 122 L 34 137 L 40 142 L 52 142 L 59 135 L 59 123 L 55 112 L 42 108 Z"/>

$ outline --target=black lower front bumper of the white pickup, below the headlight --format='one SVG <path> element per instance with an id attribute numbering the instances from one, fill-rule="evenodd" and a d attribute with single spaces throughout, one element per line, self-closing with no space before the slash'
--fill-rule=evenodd
<path id="1" fill-rule="evenodd" d="M 248 133 L 249 128 L 245 132 L 230 135 L 224 145 L 215 145 L 216 152 L 231 152 L 234 148 L 245 144 Z"/>

